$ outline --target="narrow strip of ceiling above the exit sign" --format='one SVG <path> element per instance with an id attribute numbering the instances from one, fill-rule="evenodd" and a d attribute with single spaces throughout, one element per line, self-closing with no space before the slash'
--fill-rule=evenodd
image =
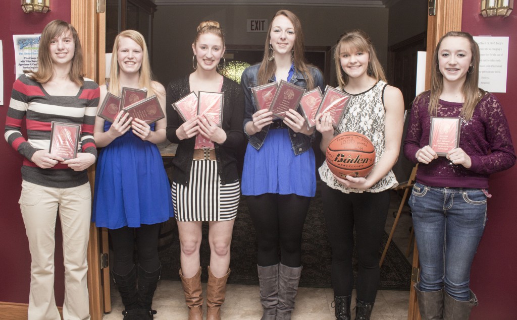
<path id="1" fill-rule="evenodd" d="M 155 0 L 157 5 L 256 5 L 389 8 L 399 0 Z"/>

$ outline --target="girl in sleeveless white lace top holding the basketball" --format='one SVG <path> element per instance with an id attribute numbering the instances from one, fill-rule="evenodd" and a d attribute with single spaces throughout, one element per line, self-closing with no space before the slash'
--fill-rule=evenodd
<path id="1" fill-rule="evenodd" d="M 354 226 L 359 254 L 356 319 L 369 319 L 380 279 L 378 249 L 389 207 L 389 188 L 397 185 L 391 168 L 402 139 L 404 103 L 399 89 L 388 86 L 370 37 L 362 30 L 345 33 L 334 51 L 339 89 L 352 95 L 336 131 L 330 114 L 318 115 L 316 130 L 322 133 L 320 148 L 326 152 L 334 135 L 354 131 L 373 143 L 375 167 L 366 178 L 342 179 L 320 167 L 322 200 L 332 247 L 332 287 L 336 318 L 350 318 L 354 278 L 352 252 Z"/>

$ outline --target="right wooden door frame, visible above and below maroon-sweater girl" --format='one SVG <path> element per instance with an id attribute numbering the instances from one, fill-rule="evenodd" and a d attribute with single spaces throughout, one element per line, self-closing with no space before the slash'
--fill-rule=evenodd
<path id="1" fill-rule="evenodd" d="M 425 89 L 431 88 L 431 73 L 434 72 L 432 66 L 433 52 L 440 38 L 449 31 L 461 31 L 462 0 L 433 0 L 435 10 L 433 15 L 428 16 L 427 22 L 427 61 L 425 66 Z M 431 11 L 431 10 L 430 10 Z M 415 252 L 413 259 L 412 286 L 409 292 L 408 320 L 420 320 L 418 302 L 413 284 L 418 281 L 419 264 L 418 250 L 415 241 Z"/>

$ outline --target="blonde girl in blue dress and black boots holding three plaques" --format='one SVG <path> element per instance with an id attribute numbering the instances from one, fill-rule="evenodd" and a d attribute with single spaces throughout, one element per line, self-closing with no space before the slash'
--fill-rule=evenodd
<path id="1" fill-rule="evenodd" d="M 165 113 L 165 89 L 151 80 L 144 37 L 125 30 L 115 38 L 109 85 L 100 101 L 122 87 L 156 94 Z M 97 164 L 92 221 L 109 229 L 115 256 L 113 278 L 122 297 L 125 319 L 153 318 L 151 302 L 160 278 L 160 222 L 173 216 L 169 179 L 157 143 L 166 140 L 166 119 L 148 125 L 121 111 L 113 123 L 97 117 L 94 137 L 102 147 Z M 136 235 L 136 237 L 135 237 Z M 134 243 L 138 267 L 133 262 Z M 138 278 L 138 288 L 137 279 Z"/>

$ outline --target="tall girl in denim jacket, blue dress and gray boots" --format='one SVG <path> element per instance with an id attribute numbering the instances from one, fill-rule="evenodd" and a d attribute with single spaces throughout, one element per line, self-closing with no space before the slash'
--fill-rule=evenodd
<path id="1" fill-rule="evenodd" d="M 241 188 L 258 235 L 262 319 L 291 318 L 302 269 L 303 223 L 316 192 L 314 129 L 307 129 L 296 110 L 290 109 L 283 121 L 270 111 L 257 111 L 252 96 L 252 87 L 281 80 L 324 90 L 320 70 L 305 62 L 300 21 L 287 10 L 271 20 L 262 62 L 241 77 L 249 138 Z"/>

